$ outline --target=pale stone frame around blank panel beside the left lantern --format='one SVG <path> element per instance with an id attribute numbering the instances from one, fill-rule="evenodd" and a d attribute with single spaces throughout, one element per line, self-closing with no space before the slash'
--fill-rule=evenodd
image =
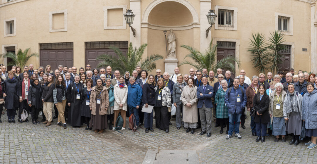
<path id="1" fill-rule="evenodd" d="M 104 6 L 103 7 L 103 29 L 109 30 L 109 29 L 126 29 L 126 19 L 122 15 L 122 26 L 108 26 L 107 25 L 107 15 L 108 15 L 108 9 L 122 9 L 122 13 L 124 14 L 126 11 L 126 5 L 114 5 L 114 6 Z"/>

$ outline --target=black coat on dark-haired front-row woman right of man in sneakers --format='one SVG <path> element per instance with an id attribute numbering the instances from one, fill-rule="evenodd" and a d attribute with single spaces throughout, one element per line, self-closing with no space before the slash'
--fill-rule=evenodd
<path id="1" fill-rule="evenodd" d="M 261 118 L 261 123 L 266 124 L 270 122 L 270 115 L 268 114 L 268 107 L 270 106 L 270 98 L 267 94 L 264 93 L 262 99 L 259 101 L 257 100 L 258 94 L 254 95 L 253 98 L 253 107 L 256 112 L 259 112 L 259 114 L 262 115 L 255 115 L 254 117 L 254 122 L 260 122 Z"/>

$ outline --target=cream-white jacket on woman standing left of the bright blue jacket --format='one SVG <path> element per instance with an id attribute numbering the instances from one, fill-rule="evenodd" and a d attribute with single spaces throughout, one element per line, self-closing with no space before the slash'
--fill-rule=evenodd
<path id="1" fill-rule="evenodd" d="M 124 85 L 123 88 L 120 88 L 118 84 L 114 85 L 113 95 L 114 95 L 113 110 L 123 109 L 126 111 L 126 99 L 128 97 L 128 86 Z M 123 107 L 120 107 L 119 104 L 123 104 Z"/>

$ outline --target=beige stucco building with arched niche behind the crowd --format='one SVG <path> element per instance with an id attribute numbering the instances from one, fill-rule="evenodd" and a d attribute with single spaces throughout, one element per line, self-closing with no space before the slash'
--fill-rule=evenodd
<path id="1" fill-rule="evenodd" d="M 123 16 L 126 9 L 136 15 L 135 37 Z M 218 17 L 206 38 L 210 9 Z M 219 56 L 234 55 L 247 76 L 258 74 L 246 51 L 251 34 L 261 32 L 268 38 L 269 32 L 283 30 L 288 49 L 281 68 L 317 72 L 315 0 L 0 0 L 0 52 L 30 47 L 40 54 L 29 61 L 35 67 L 94 67 L 97 55 L 111 53 L 109 45 L 125 50 L 129 42 L 147 43 L 144 57 L 166 58 L 163 30 L 168 34 L 171 28 L 177 37 L 178 63 L 188 53 L 181 45 L 204 51 L 213 39 L 219 43 Z M 1 60 L 6 65 L 8 59 Z M 190 68 L 180 66 L 181 73 Z M 163 60 L 157 62 L 157 69 L 165 70 Z"/>

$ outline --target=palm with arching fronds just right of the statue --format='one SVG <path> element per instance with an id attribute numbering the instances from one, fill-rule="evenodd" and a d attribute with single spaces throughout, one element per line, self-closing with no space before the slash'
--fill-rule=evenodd
<path id="1" fill-rule="evenodd" d="M 189 64 L 202 70 L 207 68 L 208 72 L 210 70 L 217 72 L 218 68 L 223 68 L 235 72 L 235 63 L 240 64 L 240 62 L 232 56 L 227 56 L 217 61 L 217 45 L 212 45 L 212 40 L 205 50 L 204 53 L 199 52 L 197 49 L 188 46 L 182 45 L 181 47 L 186 48 L 190 53 L 185 56 L 185 58 L 190 58 L 191 60 L 184 60 L 180 65 Z M 184 58 L 184 59 L 185 59 Z M 192 62 L 193 61 L 193 62 Z"/>

